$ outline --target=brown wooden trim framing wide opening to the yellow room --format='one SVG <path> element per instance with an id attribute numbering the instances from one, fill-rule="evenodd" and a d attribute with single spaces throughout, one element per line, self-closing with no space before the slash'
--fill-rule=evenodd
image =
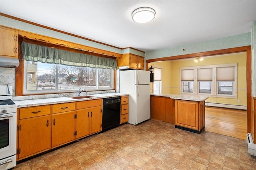
<path id="1" fill-rule="evenodd" d="M 246 52 L 246 99 L 247 99 L 247 132 L 255 132 L 256 124 L 252 117 L 252 51 L 251 45 L 243 46 L 243 47 L 234 47 L 228 49 L 219 49 L 214 51 L 206 51 L 200 53 L 192 53 L 186 55 L 176 55 L 170 57 L 162 57 L 156 59 L 147 59 L 146 60 L 146 67 L 148 63 L 156 62 L 156 61 L 168 61 L 174 59 L 185 59 L 185 58 L 193 58 L 193 57 L 204 57 L 210 55 L 221 55 L 221 54 L 228 54 L 228 53 L 238 53 L 238 52 Z M 255 134 L 256 135 L 256 134 Z"/>

